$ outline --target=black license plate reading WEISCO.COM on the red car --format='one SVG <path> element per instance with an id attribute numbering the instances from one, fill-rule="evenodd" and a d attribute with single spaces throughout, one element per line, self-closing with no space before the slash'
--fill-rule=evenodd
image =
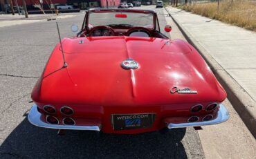
<path id="1" fill-rule="evenodd" d="M 114 130 L 127 130 L 152 127 L 154 118 L 154 113 L 111 115 Z"/>

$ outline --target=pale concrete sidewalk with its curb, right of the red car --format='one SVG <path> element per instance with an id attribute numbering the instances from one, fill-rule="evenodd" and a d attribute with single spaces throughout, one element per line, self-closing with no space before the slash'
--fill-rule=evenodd
<path id="1" fill-rule="evenodd" d="M 256 33 L 177 8 L 166 9 L 208 62 L 256 138 Z"/>

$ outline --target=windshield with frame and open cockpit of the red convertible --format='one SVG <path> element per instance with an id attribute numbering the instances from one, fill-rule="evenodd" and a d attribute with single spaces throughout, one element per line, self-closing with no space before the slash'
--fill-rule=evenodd
<path id="1" fill-rule="evenodd" d="M 89 10 L 80 37 L 128 36 L 167 37 L 160 32 L 156 12 L 152 10 Z"/>

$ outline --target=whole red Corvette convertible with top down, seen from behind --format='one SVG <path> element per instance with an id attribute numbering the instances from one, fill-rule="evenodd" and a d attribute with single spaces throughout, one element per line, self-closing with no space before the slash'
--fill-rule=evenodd
<path id="1" fill-rule="evenodd" d="M 88 10 L 77 36 L 53 50 L 32 98 L 28 120 L 49 129 L 143 133 L 229 118 L 209 66 L 188 42 L 163 35 L 152 10 Z"/>

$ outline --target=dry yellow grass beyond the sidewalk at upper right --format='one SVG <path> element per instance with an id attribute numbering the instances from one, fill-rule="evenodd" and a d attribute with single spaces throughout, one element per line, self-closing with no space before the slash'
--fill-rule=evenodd
<path id="1" fill-rule="evenodd" d="M 192 6 L 181 6 L 181 8 L 198 15 L 256 31 L 256 1 L 234 0 L 231 3 L 231 0 L 222 0 L 219 10 L 217 2 L 194 3 Z"/>

